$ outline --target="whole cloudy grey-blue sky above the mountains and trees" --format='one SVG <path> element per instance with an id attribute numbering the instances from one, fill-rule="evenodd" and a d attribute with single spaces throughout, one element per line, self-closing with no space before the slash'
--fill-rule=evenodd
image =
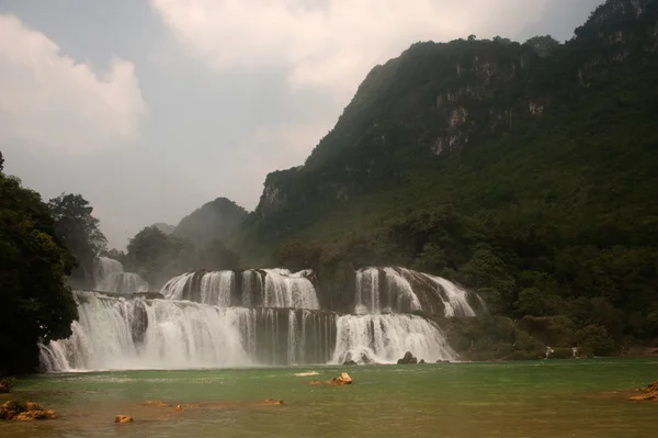
<path id="1" fill-rule="evenodd" d="M 217 196 L 252 210 L 413 42 L 564 41 L 601 2 L 0 0 L 4 170 L 81 193 L 121 248 Z"/>

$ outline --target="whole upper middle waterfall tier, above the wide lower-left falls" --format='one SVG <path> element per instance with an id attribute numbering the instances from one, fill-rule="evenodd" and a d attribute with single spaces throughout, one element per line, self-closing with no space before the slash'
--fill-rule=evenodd
<path id="1" fill-rule="evenodd" d="M 308 279 L 310 273 L 308 270 L 293 273 L 285 269 L 247 270 L 238 274 L 234 271 L 190 272 L 169 280 L 160 293 L 167 300 L 223 307 L 318 310 L 320 304 Z"/>

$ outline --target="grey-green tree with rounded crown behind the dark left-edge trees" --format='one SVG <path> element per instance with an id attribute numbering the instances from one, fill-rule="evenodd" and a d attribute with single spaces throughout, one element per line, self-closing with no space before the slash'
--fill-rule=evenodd
<path id="1" fill-rule="evenodd" d="M 93 263 L 105 250 L 107 239 L 100 221 L 91 215 L 93 207 L 80 194 L 61 193 L 48 202 L 55 231 L 75 257 L 78 269 L 71 282 L 79 288 L 93 288 Z"/>

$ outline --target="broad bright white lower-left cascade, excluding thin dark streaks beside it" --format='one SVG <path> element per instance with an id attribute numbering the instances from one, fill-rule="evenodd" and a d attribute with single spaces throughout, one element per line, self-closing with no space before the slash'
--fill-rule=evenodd
<path id="1" fill-rule="evenodd" d="M 246 366 L 253 332 L 247 308 L 76 292 L 79 322 L 68 339 L 39 346 L 46 371 Z M 245 348 L 247 345 L 247 348 Z"/>

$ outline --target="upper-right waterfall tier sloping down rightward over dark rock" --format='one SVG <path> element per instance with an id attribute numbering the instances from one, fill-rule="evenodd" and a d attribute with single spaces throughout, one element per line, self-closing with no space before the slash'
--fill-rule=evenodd
<path id="1" fill-rule="evenodd" d="M 354 313 L 412 313 L 475 316 L 473 295 L 486 312 L 481 299 L 450 280 L 405 268 L 366 268 L 356 271 Z"/>

